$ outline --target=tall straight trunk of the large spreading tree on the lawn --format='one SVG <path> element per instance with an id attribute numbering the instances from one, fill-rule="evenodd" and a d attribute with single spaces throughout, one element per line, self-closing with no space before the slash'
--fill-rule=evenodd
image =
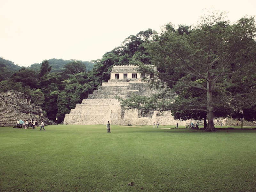
<path id="1" fill-rule="evenodd" d="M 207 127 L 205 129 L 205 131 L 215 131 L 215 127 L 213 124 L 213 107 L 212 107 L 212 84 L 211 82 L 207 81 L 207 108 L 206 108 L 206 112 L 207 112 Z"/>

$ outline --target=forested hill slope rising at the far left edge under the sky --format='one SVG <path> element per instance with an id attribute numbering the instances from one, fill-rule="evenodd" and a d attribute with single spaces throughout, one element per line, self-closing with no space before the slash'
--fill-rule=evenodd
<path id="1" fill-rule="evenodd" d="M 19 71 L 21 67 L 15 65 L 12 61 L 5 60 L 0 57 L 0 81 L 7 80 L 16 71 Z"/>

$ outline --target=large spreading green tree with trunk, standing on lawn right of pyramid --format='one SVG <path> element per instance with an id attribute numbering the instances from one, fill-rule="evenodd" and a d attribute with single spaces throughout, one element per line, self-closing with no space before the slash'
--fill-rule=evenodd
<path id="1" fill-rule="evenodd" d="M 250 88 L 241 90 L 240 87 L 235 93 L 232 89 L 241 85 L 241 80 L 255 81 L 255 70 L 252 70 L 256 61 L 255 32 L 252 17 L 230 25 L 223 13 L 213 12 L 202 17 L 192 29 L 180 26 L 175 30 L 172 24 L 167 24 L 160 34 L 155 34 L 146 48 L 151 62 L 158 68 L 156 76 L 177 94 L 172 97 L 174 103 L 168 105 L 169 110 L 176 110 L 176 115 L 182 109 L 197 111 L 195 116 L 205 113 L 206 131 L 215 130 L 214 117 L 242 110 L 248 97 L 245 94 L 255 94 L 255 86 L 247 84 Z M 152 73 L 142 62 L 139 69 Z"/>

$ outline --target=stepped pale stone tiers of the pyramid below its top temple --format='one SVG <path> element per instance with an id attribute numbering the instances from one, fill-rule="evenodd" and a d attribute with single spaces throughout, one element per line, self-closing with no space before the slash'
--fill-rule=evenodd
<path id="1" fill-rule="evenodd" d="M 117 125 L 152 125 L 156 122 L 156 112 L 152 112 L 149 117 L 140 117 L 137 109 L 122 109 L 115 96 L 126 99 L 132 94 L 150 96 L 158 92 L 157 89 L 151 89 L 148 83 L 141 82 L 141 79 L 109 79 L 108 83 L 102 83 L 98 90 L 71 109 L 63 123 L 89 125 L 110 121 Z"/>

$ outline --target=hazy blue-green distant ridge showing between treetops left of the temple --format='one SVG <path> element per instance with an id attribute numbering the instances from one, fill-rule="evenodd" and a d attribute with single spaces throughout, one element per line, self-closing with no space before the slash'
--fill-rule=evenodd
<path id="1" fill-rule="evenodd" d="M 52 70 L 50 71 L 50 73 L 53 72 L 60 72 L 63 69 L 63 66 L 65 64 L 68 64 L 69 62 L 72 62 L 74 60 L 63 60 L 63 59 L 49 59 L 49 65 L 52 66 Z M 90 71 L 92 70 L 92 68 L 94 67 L 95 63 L 89 62 L 89 61 L 82 61 L 84 63 L 84 65 L 86 66 L 86 71 Z M 35 63 L 32 64 L 30 67 L 28 67 L 29 69 L 33 69 L 33 70 L 40 70 L 42 63 Z"/>

